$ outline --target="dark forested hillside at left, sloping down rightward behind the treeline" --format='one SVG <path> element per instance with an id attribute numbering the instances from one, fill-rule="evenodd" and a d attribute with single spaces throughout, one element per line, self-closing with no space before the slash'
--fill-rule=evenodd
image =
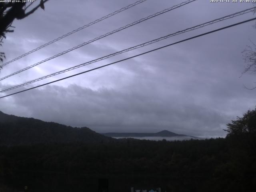
<path id="1" fill-rule="evenodd" d="M 111 141 L 87 127 L 73 128 L 0 112 L 0 145 Z"/>

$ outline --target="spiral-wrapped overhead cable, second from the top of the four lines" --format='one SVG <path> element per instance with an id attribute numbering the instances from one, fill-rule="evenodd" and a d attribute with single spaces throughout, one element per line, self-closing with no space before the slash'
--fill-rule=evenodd
<path id="1" fill-rule="evenodd" d="M 80 48 L 80 47 L 82 47 L 82 46 L 85 46 L 85 45 L 87 45 L 87 44 L 90 44 L 90 43 L 92 43 L 92 42 L 94 42 L 94 41 L 96 41 L 96 40 L 99 40 L 99 39 L 104 38 L 104 37 L 106 37 L 106 36 L 112 35 L 112 34 L 114 34 L 114 33 L 116 33 L 116 32 L 119 32 L 119 31 L 121 31 L 121 30 L 124 30 L 124 29 L 126 29 L 126 28 L 128 28 L 128 27 L 134 26 L 134 25 L 136 25 L 136 24 L 139 24 L 139 23 L 144 22 L 144 21 L 146 21 L 146 20 L 148 20 L 148 19 L 154 18 L 154 17 L 156 17 L 156 16 L 158 16 L 158 15 L 164 14 L 164 13 L 166 13 L 166 12 L 169 12 L 169 11 L 171 11 L 171 10 L 174 10 L 174 9 L 176 9 L 176 8 L 179 8 L 179 7 L 181 7 L 181 6 L 184 6 L 184 5 L 186 5 L 186 4 L 188 4 L 188 3 L 191 3 L 191 2 L 194 2 L 194 1 L 196 1 L 196 0 L 187 0 L 187 1 L 185 1 L 185 2 L 182 2 L 182 3 L 178 4 L 178 5 L 172 6 L 172 7 L 170 7 L 170 8 L 165 9 L 165 10 L 162 10 L 162 11 L 160 11 L 160 12 L 157 12 L 157 13 L 155 13 L 155 14 L 152 14 L 152 15 L 150 15 L 150 16 L 147 16 L 147 17 L 145 17 L 145 18 L 142 18 L 142 19 L 140 19 L 140 20 L 137 20 L 137 21 L 135 21 L 135 22 L 133 22 L 133 23 L 131 23 L 131 24 L 128 24 L 128 25 L 123 26 L 123 27 L 120 27 L 120 28 L 118 28 L 118 29 L 116 29 L 116 30 L 113 30 L 113 31 L 111 31 L 111 32 L 108 32 L 108 33 L 106 33 L 106 34 L 104 34 L 104 35 L 101 35 L 101 36 L 96 37 L 96 38 L 94 38 L 94 39 L 92 39 L 92 40 L 89 40 L 89 41 L 87 41 L 87 42 L 84 42 L 84 43 L 82 43 L 82 44 L 80 44 L 80 45 L 78 45 L 78 46 L 75 46 L 75 47 L 70 48 L 70 49 L 68 49 L 68 50 L 65 50 L 65 51 L 63 51 L 63 52 L 61 52 L 61 53 L 58 53 L 58 54 L 56 54 L 56 55 L 54 55 L 54 56 L 51 56 L 51 57 L 49 57 L 49 58 L 47 58 L 47 59 L 45 59 L 45 60 L 42 60 L 42 61 L 40 61 L 40 62 L 38 62 L 38 63 L 36 63 L 36 64 L 30 65 L 30 66 L 28 66 L 28 67 L 26 67 L 26 68 L 23 68 L 23 69 L 21 69 L 21 70 L 19 70 L 19 71 L 16 71 L 16 72 L 14 72 L 14 73 L 12 73 L 12 74 L 10 74 L 10 75 L 7 75 L 7 76 L 5 76 L 5 77 L 3 77 L 3 78 L 0 78 L 0 81 L 1 81 L 1 80 L 4 80 L 4 79 L 6 79 L 6 78 L 8 78 L 8 77 L 10 77 L 10 76 L 13 76 L 13 75 L 15 75 L 15 74 L 18 74 L 18 73 L 20 73 L 20 72 L 22 72 L 22 71 L 28 70 L 28 69 L 30 69 L 30 68 L 32 68 L 32 67 L 34 67 L 34 66 L 37 66 L 37 65 L 39 65 L 39 64 L 41 64 L 41 63 L 43 63 L 43 62 L 46 62 L 46 61 L 48 61 L 48 60 L 51 60 L 51 59 L 53 59 L 53 58 L 56 58 L 56 57 L 61 56 L 61 55 L 63 55 L 63 54 L 66 54 L 66 53 L 68 53 L 68 52 L 70 52 L 70 51 L 72 51 L 72 50 L 75 50 L 75 49 L 77 49 L 77 48 Z"/>

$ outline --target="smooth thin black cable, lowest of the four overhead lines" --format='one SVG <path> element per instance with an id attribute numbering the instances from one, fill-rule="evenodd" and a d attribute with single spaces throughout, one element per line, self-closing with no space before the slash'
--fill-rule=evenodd
<path id="1" fill-rule="evenodd" d="M 118 61 L 116 61 L 116 62 L 112 62 L 112 63 L 110 63 L 110 64 L 106 64 L 106 65 L 103 65 L 103 66 L 100 66 L 100 67 L 96 67 L 96 68 L 93 68 L 93 69 L 90 69 L 90 70 L 87 70 L 87 71 L 84 71 L 84 72 L 80 72 L 80 73 L 77 73 L 77 74 L 74 74 L 74 75 L 71 75 L 71 76 L 68 76 L 68 77 L 64 77 L 64 78 L 61 78 L 61 79 L 58 79 L 58 80 L 55 80 L 55 81 L 52 81 L 52 82 L 48 82 L 48 83 L 42 84 L 42 85 L 38 85 L 38 86 L 29 88 L 29 89 L 26 89 L 26 90 L 22 90 L 22 91 L 19 91 L 19 92 L 15 92 L 15 93 L 12 93 L 12 94 L 8 94 L 8 95 L 2 96 L 2 97 L 0 97 L 0 98 L 8 97 L 8 96 L 11 96 L 11 95 L 14 95 L 14 94 L 18 94 L 18 93 L 21 93 L 21 92 L 25 92 L 25 91 L 28 91 L 28 90 L 31 90 L 31 89 L 34 89 L 34 88 L 38 88 L 38 87 L 41 87 L 41 86 L 45 86 L 45 85 L 48 85 L 48 84 L 52 84 L 52 83 L 54 83 L 54 82 L 58 82 L 58 81 L 61 81 L 61 80 L 67 79 L 67 78 L 71 78 L 71 77 L 74 77 L 74 76 L 77 76 L 77 75 L 80 75 L 80 74 L 84 74 L 84 73 L 87 73 L 87 72 L 96 70 L 96 69 L 100 69 L 100 68 L 103 68 L 103 67 L 106 67 L 106 66 L 110 66 L 110 65 L 112 65 L 112 64 L 115 64 L 115 63 L 118 63 L 118 62 L 122 62 L 122 61 L 131 59 L 131 58 L 134 58 L 134 57 L 137 57 L 137 56 L 141 56 L 141 55 L 144 55 L 144 54 L 147 54 L 147 53 L 156 51 L 156 50 L 160 50 L 160 49 L 162 49 L 162 48 L 165 48 L 165 47 L 168 47 L 168 46 L 172 46 L 172 45 L 174 45 L 174 44 L 178 44 L 178 43 L 181 43 L 181 42 L 185 42 L 185 41 L 188 41 L 188 40 L 191 40 L 191 39 L 194 39 L 194 38 L 198 38 L 198 37 L 200 37 L 200 36 L 204 36 L 204 35 L 207 35 L 207 34 L 210 34 L 210 33 L 214 33 L 214 32 L 220 31 L 220 30 L 224 30 L 224 29 L 226 29 L 226 28 L 230 28 L 230 27 L 233 27 L 233 26 L 236 26 L 236 25 L 240 25 L 240 24 L 243 24 L 243 23 L 246 23 L 246 22 L 250 22 L 250 21 L 252 21 L 252 20 L 256 20 L 256 18 L 248 19 L 248 20 L 245 20 L 245 21 L 242 21 L 242 22 L 238 22 L 238 23 L 236 23 L 236 24 L 232 24 L 232 25 L 229 25 L 229 26 L 226 26 L 226 27 L 218 28 L 218 29 L 212 30 L 212 31 L 210 31 L 210 32 L 206 32 L 206 33 L 203 33 L 203 34 L 200 34 L 200 35 L 197 35 L 197 36 L 193 36 L 193 37 L 190 37 L 190 38 L 187 38 L 187 39 L 184 39 L 184 40 L 181 40 L 181 41 L 172 43 L 172 44 L 168 44 L 168 45 L 166 45 L 166 46 L 162 46 L 162 47 L 159 47 L 159 48 L 156 48 L 156 49 L 153 49 L 153 50 L 150 50 L 150 51 L 141 53 L 141 54 L 137 54 L 137 55 L 134 55 L 134 56 L 131 56 L 131 57 L 122 59 L 122 60 L 118 60 Z"/>

